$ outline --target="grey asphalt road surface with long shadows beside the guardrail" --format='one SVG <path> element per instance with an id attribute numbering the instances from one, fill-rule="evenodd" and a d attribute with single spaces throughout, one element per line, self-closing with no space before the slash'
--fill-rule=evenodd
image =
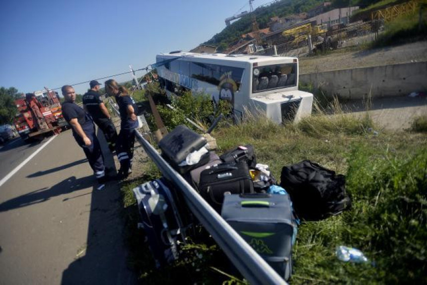
<path id="1" fill-rule="evenodd" d="M 2 147 L 0 179 L 45 142 Z M 106 161 L 114 165 L 111 154 Z M 0 186 L 0 284 L 135 283 L 127 269 L 118 184 L 102 191 L 94 186 L 71 131 Z"/>

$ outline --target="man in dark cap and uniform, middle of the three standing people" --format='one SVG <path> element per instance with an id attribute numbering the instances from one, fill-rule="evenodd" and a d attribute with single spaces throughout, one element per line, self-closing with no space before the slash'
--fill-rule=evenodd
<path id="1" fill-rule="evenodd" d="M 113 152 L 116 146 L 117 131 L 110 118 L 110 113 L 99 97 L 99 82 L 92 80 L 89 82 L 90 89 L 83 95 L 83 108 L 90 114 L 95 124 L 104 133 L 110 151 Z"/>

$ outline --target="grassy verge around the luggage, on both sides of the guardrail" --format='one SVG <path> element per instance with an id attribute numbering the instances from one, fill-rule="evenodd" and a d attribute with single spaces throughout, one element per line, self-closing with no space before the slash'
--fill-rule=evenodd
<path id="1" fill-rule="evenodd" d="M 239 144 L 253 144 L 257 161 L 270 165 L 278 180 L 283 166 L 303 159 L 346 175 L 353 208 L 300 225 L 293 247 L 291 283 L 427 283 L 427 135 L 411 131 L 375 136 L 367 131 L 374 126 L 368 116 L 356 119 L 339 111 L 335 116 L 320 113 L 298 125 L 284 126 L 252 117 L 213 133 L 219 153 Z M 177 263 L 154 268 L 142 242 L 143 233 L 136 229 L 138 213 L 131 190 L 160 173 L 152 163 L 143 167 L 139 180 L 122 187 L 130 264 L 141 283 L 172 284 L 178 279 L 184 284 L 237 283 L 242 277 L 229 269 L 226 258 L 206 234 L 195 235 L 182 247 Z M 370 262 L 339 261 L 334 255 L 339 245 L 360 249 Z"/>

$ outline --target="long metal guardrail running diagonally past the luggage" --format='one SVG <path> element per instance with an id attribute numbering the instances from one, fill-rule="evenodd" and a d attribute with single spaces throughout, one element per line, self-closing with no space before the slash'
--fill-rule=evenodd
<path id="1" fill-rule="evenodd" d="M 116 113 L 119 111 L 111 104 Z M 258 253 L 191 187 L 190 184 L 158 154 L 142 134 L 135 130 L 137 140 L 163 176 L 181 190 L 188 207 L 209 231 L 218 246 L 250 284 L 283 284 L 286 282 Z"/>

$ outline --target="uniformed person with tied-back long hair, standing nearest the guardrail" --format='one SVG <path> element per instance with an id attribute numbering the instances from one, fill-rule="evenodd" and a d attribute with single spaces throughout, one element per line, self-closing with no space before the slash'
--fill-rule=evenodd
<path id="1" fill-rule="evenodd" d="M 135 132 L 138 127 L 138 107 L 129 95 L 125 86 L 117 84 L 113 79 L 105 81 L 105 91 L 115 96 L 120 112 L 120 133 L 116 142 L 117 158 L 120 162 L 118 178 L 124 179 L 132 172 L 134 157 Z"/>

